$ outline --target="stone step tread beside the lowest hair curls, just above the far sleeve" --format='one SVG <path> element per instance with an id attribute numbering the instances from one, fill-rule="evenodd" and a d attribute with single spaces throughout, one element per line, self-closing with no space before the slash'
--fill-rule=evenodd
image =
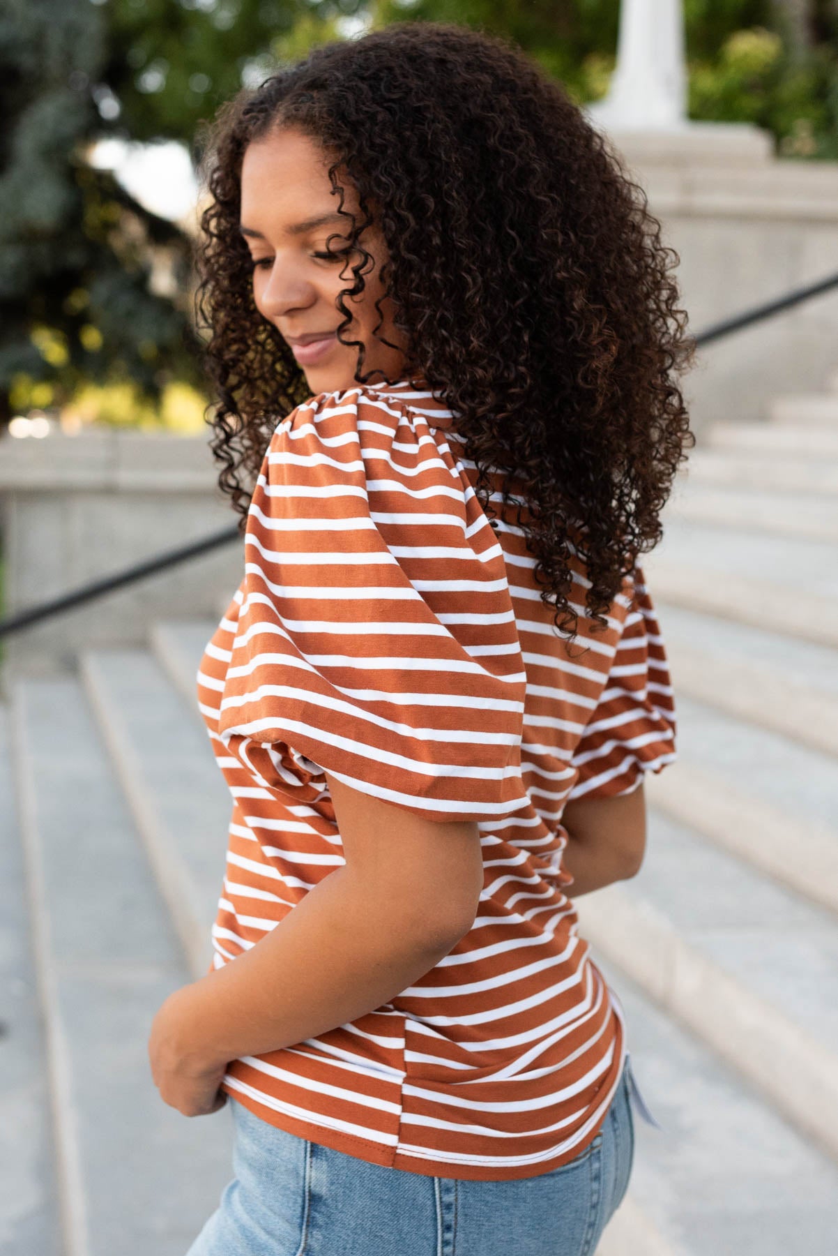
<path id="1" fill-rule="evenodd" d="M 709 565 L 687 566 L 657 550 L 647 554 L 644 571 L 656 600 L 699 614 L 763 628 L 788 638 L 838 648 L 838 600 L 802 589 L 789 589 L 780 579 L 760 580 Z"/>

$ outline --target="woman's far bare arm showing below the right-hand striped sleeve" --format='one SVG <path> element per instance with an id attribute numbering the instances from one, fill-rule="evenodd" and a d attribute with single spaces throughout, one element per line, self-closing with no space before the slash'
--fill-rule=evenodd
<path id="1" fill-rule="evenodd" d="M 646 849 L 644 782 L 631 794 L 573 799 L 562 824 L 570 838 L 562 867 L 573 877 L 565 889 L 568 898 L 635 877 Z"/>

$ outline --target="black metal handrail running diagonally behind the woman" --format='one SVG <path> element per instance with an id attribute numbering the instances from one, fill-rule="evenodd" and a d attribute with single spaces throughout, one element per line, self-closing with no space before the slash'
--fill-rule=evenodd
<path id="1" fill-rule="evenodd" d="M 696 347 L 701 347 L 710 344 L 714 340 L 720 340 L 724 337 L 730 335 L 733 332 L 739 332 L 741 328 L 750 327 L 753 323 L 761 323 L 763 319 L 770 318 L 773 314 L 779 314 L 782 310 L 792 309 L 793 305 L 799 305 L 802 301 L 807 301 L 813 296 L 819 296 L 822 293 L 827 293 L 833 288 L 838 288 L 838 274 L 822 279 L 817 284 L 809 284 L 807 288 L 795 288 L 793 291 L 787 293 L 785 296 L 780 296 L 774 301 L 755 305 L 751 309 L 745 310 L 743 314 L 736 314 L 734 318 L 725 319 L 723 323 L 715 323 L 704 332 L 699 332 L 699 334 L 694 338 L 694 343 Z M 51 615 L 60 614 L 63 610 L 70 610 L 73 607 L 78 607 L 84 602 L 90 602 L 93 598 L 100 598 L 103 594 L 110 593 L 113 589 L 120 589 L 127 584 L 133 584 L 135 580 L 142 580 L 148 575 L 154 575 L 157 571 L 163 571 L 166 568 L 176 566 L 178 563 L 186 563 L 188 559 L 196 558 L 198 554 L 206 554 L 208 550 L 217 549 L 220 545 L 228 545 L 235 540 L 241 540 L 238 525 L 235 525 L 233 528 L 225 528 L 223 531 L 220 533 L 213 533 L 202 541 L 193 541 L 189 545 L 181 545 L 178 549 L 166 550 L 163 554 L 158 554 L 156 558 L 151 558 L 146 563 L 138 563 L 135 566 L 125 568 L 125 570 L 119 571 L 117 575 L 107 577 L 103 580 L 94 580 L 92 584 L 84 584 L 79 589 L 74 589 L 72 593 L 65 593 L 60 598 L 53 598 L 50 602 L 41 602 L 40 605 L 30 607 L 28 610 L 20 610 L 18 614 L 10 615 L 8 619 L 0 619 L 0 639 L 3 637 L 8 637 L 13 632 L 29 628 L 30 624 L 39 623 L 41 619 L 48 619 Z"/>

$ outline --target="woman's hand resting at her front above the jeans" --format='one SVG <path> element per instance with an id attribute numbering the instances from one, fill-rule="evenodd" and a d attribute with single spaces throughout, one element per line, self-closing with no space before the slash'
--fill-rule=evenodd
<path id="1" fill-rule="evenodd" d="M 226 1064 L 208 1061 L 194 1045 L 194 1016 L 189 1011 L 189 986 L 176 990 L 152 1021 L 148 1058 L 161 1098 L 184 1117 L 204 1117 L 227 1103 L 220 1090 Z"/>

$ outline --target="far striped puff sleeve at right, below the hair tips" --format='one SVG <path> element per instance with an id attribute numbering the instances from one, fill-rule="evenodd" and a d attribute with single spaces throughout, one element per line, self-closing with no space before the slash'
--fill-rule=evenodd
<path id="1" fill-rule="evenodd" d="M 631 794 L 645 772 L 660 772 L 677 757 L 669 662 L 637 565 L 626 600 L 605 688 L 572 755 L 577 777 L 570 799 Z"/>

